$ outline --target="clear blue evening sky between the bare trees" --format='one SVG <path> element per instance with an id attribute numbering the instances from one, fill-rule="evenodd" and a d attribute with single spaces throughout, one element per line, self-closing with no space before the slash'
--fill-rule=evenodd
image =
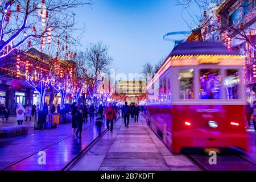
<path id="1" fill-rule="evenodd" d="M 187 10 L 175 0 L 94 0 L 92 7 L 76 10 L 77 27 L 85 24 L 82 47 L 102 41 L 110 46 L 117 73 L 141 73 L 142 65 L 167 56 L 174 43 L 164 41 L 171 31 L 189 31 L 181 15 L 191 23 Z M 195 7 L 190 7 L 193 13 Z M 199 12 L 198 12 L 199 13 Z"/>

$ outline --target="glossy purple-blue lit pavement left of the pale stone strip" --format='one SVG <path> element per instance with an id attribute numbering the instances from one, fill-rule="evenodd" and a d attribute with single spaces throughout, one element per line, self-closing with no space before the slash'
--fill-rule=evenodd
<path id="1" fill-rule="evenodd" d="M 98 130 L 94 122 L 83 125 L 81 140 L 72 137 L 71 123 L 58 125 L 56 129 L 31 128 L 27 135 L 0 139 L 0 168 L 32 155 L 7 170 L 60 170 L 96 137 Z M 39 165 L 38 151 L 44 148 L 47 164 Z"/>

